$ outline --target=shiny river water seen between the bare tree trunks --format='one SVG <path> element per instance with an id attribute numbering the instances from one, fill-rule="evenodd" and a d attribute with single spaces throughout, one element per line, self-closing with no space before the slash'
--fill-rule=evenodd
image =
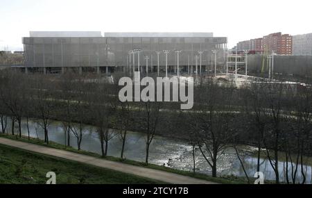
<path id="1" fill-rule="evenodd" d="M 8 124 L 10 125 L 10 124 Z M 0 125 L 1 126 L 1 125 Z M 17 126 L 16 126 L 17 127 Z M 10 131 L 8 126 L 8 131 Z M 36 122 L 29 122 L 29 129 L 31 137 L 44 139 L 44 131 Z M 15 129 L 18 131 L 18 129 Z M 85 151 L 91 151 L 97 154 L 101 154 L 101 145 L 98 140 L 98 135 L 95 133 L 96 129 L 94 126 L 85 126 L 83 132 L 83 140 L 81 142 L 81 149 Z M 23 135 L 28 135 L 26 123 L 22 123 Z M 119 157 L 121 152 L 121 139 L 119 138 L 118 132 L 114 132 L 116 135 L 109 142 L 108 155 Z M 53 122 L 49 126 L 49 140 L 58 142 L 64 145 L 64 129 L 62 128 L 61 122 Z M 77 148 L 76 137 L 71 134 L 71 146 Z M 128 132 L 124 157 L 130 160 L 145 161 L 145 134 L 137 132 Z M 156 136 L 154 141 L 150 145 L 150 163 L 156 165 L 165 165 L 178 170 L 193 170 L 193 156 L 192 147 L 181 140 L 175 140 L 171 138 L 163 138 Z M 245 169 L 249 176 L 254 176 L 257 171 L 257 158 L 252 157 L 250 152 L 244 152 L 243 161 Z M 288 164 L 291 172 L 291 164 Z M 280 181 L 286 181 L 285 171 L 286 163 L 279 161 L 280 170 Z M 225 153 L 218 159 L 218 175 L 235 175 L 245 176 L 241 163 L 239 163 L 236 157 L 234 149 L 227 149 Z M 275 172 L 268 160 L 261 159 L 260 171 L 264 173 L 265 179 L 275 180 Z M 200 151 L 196 149 L 196 172 L 210 174 L 211 168 L 202 157 Z M 301 167 L 298 167 L 297 171 L 297 182 L 302 181 Z M 311 183 L 311 166 L 304 165 L 304 172 L 306 173 L 306 183 Z M 291 173 L 290 173 L 291 174 Z M 291 175 L 290 179 L 291 179 Z"/>

